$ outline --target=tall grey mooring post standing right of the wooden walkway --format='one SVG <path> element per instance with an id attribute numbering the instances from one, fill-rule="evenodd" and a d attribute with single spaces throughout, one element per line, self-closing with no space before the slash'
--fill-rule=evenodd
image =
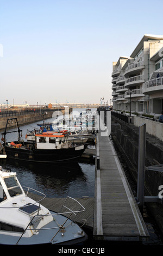
<path id="1" fill-rule="evenodd" d="M 137 202 L 142 208 L 144 203 L 145 185 L 145 159 L 146 159 L 146 124 L 139 126 L 139 155 L 137 175 Z"/>

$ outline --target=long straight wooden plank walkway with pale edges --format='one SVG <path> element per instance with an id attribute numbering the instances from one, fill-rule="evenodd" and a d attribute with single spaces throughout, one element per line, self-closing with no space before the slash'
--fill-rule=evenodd
<path id="1" fill-rule="evenodd" d="M 102 127 L 103 131 L 104 128 Z M 99 130 L 96 141 L 94 238 L 114 241 L 146 240 L 146 225 L 109 136 L 104 136 Z"/>

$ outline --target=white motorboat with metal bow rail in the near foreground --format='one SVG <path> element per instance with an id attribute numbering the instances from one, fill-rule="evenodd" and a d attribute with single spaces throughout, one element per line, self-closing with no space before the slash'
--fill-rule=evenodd
<path id="1" fill-rule="evenodd" d="M 73 220 L 85 211 L 77 200 L 67 197 L 62 212 L 57 213 L 40 204 L 45 194 L 41 193 L 42 199 L 35 202 L 28 196 L 29 190 L 32 188 L 22 188 L 16 173 L 0 167 L 1 245 L 73 245 L 87 239 Z M 73 200 L 73 209 L 66 206 L 68 200 Z"/>

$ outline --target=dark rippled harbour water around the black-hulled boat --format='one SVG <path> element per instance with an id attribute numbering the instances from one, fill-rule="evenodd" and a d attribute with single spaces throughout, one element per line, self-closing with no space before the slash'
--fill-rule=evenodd
<path id="1" fill-rule="evenodd" d="M 37 123 L 40 122 L 20 126 L 22 139 L 26 140 L 27 130 L 39 127 Z M 10 131 L 16 130 L 15 128 Z M 14 141 L 17 135 L 17 132 L 8 133 L 6 139 Z M 95 161 L 85 162 L 80 159 L 78 162 L 68 164 L 39 164 L 5 159 L 0 160 L 0 164 L 16 172 L 22 186 L 32 187 L 45 193 L 47 197 L 94 197 Z"/>

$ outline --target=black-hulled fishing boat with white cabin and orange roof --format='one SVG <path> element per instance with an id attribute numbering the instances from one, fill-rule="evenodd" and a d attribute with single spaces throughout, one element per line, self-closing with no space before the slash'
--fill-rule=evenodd
<path id="1" fill-rule="evenodd" d="M 7 120 L 13 121 L 16 118 L 10 118 Z M 5 131 L 2 133 L 3 147 L 5 154 L 10 159 L 26 160 L 30 162 L 63 162 L 63 161 L 74 161 L 78 159 L 87 147 L 86 143 L 76 145 L 73 142 L 68 141 L 68 131 L 51 131 L 42 132 L 41 134 L 35 134 L 35 141 L 24 142 L 21 139 L 20 130 L 17 123 L 18 140 L 7 142 L 5 136 L 7 133 L 7 125 Z"/>

